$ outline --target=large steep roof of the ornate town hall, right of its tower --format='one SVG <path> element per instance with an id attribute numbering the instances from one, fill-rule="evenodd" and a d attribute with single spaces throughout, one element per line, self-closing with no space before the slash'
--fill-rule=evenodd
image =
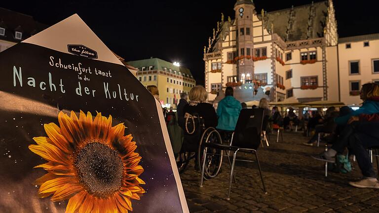
<path id="1" fill-rule="evenodd" d="M 328 1 L 321 1 L 267 12 L 264 23 L 267 29 L 270 29 L 272 23 L 274 33 L 287 42 L 317 39 L 324 36 L 327 15 Z M 262 15 L 258 17 L 262 19 Z"/>

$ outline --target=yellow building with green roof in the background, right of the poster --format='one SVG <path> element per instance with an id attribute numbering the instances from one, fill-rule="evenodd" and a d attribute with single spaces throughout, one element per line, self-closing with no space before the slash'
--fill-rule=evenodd
<path id="1" fill-rule="evenodd" d="M 176 107 L 180 93 L 189 93 L 189 90 L 196 85 L 189 69 L 175 66 L 159 58 L 126 63 L 138 69 L 137 78 L 144 86 L 156 85 L 158 87 L 160 102 L 166 107 Z"/>

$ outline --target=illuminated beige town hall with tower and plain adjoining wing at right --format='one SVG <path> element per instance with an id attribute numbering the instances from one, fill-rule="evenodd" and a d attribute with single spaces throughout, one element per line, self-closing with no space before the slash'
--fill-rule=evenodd
<path id="1" fill-rule="evenodd" d="M 359 104 L 354 89 L 376 80 L 378 35 L 339 39 L 332 0 L 260 14 L 252 0 L 237 0 L 234 10 L 235 19 L 222 16 L 204 47 L 209 101 L 230 85 L 245 102 L 265 97 Z"/>

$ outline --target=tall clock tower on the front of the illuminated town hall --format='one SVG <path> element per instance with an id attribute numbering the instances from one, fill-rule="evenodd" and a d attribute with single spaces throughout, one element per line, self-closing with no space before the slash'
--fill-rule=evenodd
<path id="1" fill-rule="evenodd" d="M 255 5 L 253 0 L 237 0 L 234 4 L 235 26 L 236 26 L 236 47 L 239 56 L 237 62 L 237 78 L 243 83 L 249 83 L 254 79 L 254 62 L 247 59 L 253 56 L 253 15 Z"/>

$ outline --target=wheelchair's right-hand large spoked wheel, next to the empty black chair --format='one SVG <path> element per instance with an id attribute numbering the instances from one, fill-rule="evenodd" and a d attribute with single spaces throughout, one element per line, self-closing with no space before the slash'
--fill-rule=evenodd
<path id="1" fill-rule="evenodd" d="M 207 128 L 200 140 L 199 150 L 198 150 L 198 159 L 199 159 L 199 167 L 200 172 L 203 167 L 204 153 L 205 153 L 205 143 L 218 143 L 222 144 L 222 139 L 220 133 L 215 128 Z M 214 149 L 211 147 L 207 148 L 207 155 L 205 159 L 205 170 L 204 170 L 204 178 L 210 179 L 219 173 L 221 169 L 221 164 L 223 163 L 223 151 Z"/>

